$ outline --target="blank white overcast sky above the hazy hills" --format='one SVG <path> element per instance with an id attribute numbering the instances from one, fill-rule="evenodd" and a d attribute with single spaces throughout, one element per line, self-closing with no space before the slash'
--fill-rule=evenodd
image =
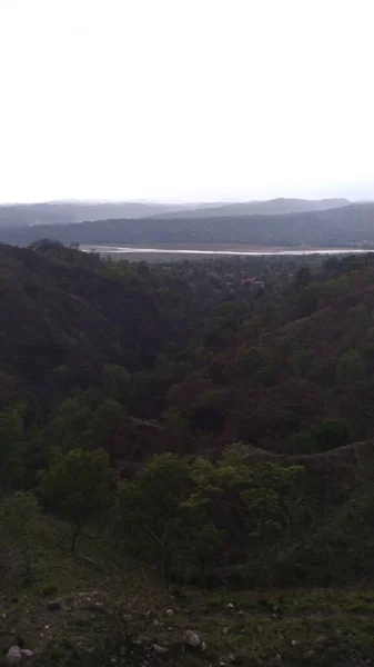
<path id="1" fill-rule="evenodd" d="M 0 201 L 374 198 L 372 0 L 0 0 Z"/>

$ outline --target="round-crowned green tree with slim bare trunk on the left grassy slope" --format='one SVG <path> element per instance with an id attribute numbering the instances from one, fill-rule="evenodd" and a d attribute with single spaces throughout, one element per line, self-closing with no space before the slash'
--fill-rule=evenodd
<path id="1" fill-rule="evenodd" d="M 113 471 L 108 455 L 98 449 L 72 449 L 40 475 L 39 491 L 47 507 L 71 526 L 71 550 L 82 528 L 113 498 Z"/>

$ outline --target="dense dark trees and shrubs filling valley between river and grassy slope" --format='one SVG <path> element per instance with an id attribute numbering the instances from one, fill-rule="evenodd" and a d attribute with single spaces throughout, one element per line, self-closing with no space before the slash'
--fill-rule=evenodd
<path id="1" fill-rule="evenodd" d="M 41 522 L 68 527 L 63 563 L 94 536 L 181 596 L 372 579 L 371 255 L 1 246 L 0 307 L 7 580 L 34 581 Z"/>

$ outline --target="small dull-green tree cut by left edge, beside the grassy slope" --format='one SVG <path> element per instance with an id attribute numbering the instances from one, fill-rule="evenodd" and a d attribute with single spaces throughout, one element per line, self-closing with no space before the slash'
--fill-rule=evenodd
<path id="1" fill-rule="evenodd" d="M 32 494 L 17 491 L 0 504 L 1 541 L 22 554 L 27 574 L 31 568 L 32 532 L 38 516 Z"/>

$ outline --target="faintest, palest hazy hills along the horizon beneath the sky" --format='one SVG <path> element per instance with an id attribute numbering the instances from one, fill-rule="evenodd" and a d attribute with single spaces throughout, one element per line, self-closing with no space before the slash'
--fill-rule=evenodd
<path id="1" fill-rule="evenodd" d="M 211 218 L 243 215 L 282 215 L 327 210 L 346 206 L 347 199 L 272 199 L 244 203 L 154 203 L 143 201 L 50 201 L 0 206 L 0 227 L 71 225 L 104 219 L 138 218 Z"/>

